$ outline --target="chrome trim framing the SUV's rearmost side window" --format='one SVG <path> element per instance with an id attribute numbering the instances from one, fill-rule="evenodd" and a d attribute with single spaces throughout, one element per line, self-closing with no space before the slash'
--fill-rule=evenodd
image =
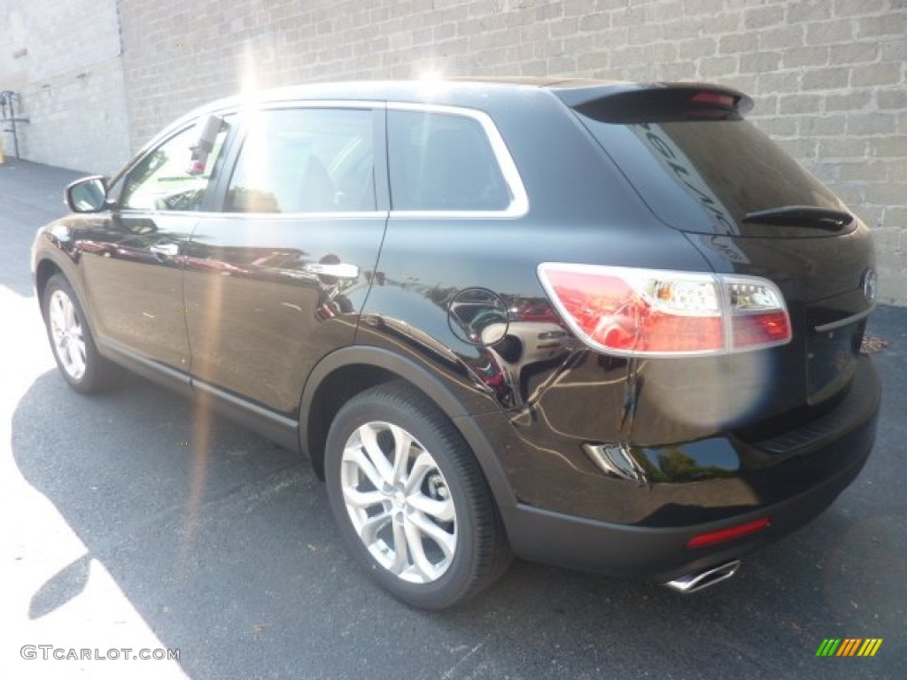
<path id="1" fill-rule="evenodd" d="M 513 197 L 510 205 L 502 210 L 395 210 L 391 209 L 390 216 L 399 219 L 486 219 L 486 218 L 522 218 L 529 212 L 529 196 L 526 194 L 526 188 L 522 183 L 520 171 L 517 170 L 516 163 L 507 149 L 501 132 L 492 121 L 492 117 L 478 109 L 470 109 L 463 106 L 448 106 L 445 104 L 424 104 L 416 102 L 387 102 L 387 111 L 405 111 L 405 112 L 424 112 L 440 113 L 443 115 L 461 116 L 471 118 L 478 122 L 489 141 L 494 154 L 494 159 L 498 163 L 498 169 L 506 182 L 508 189 L 511 190 Z M 388 146 L 390 139 L 387 140 Z M 390 181 L 390 177 L 388 177 Z M 393 187 L 392 187 L 393 191 Z"/>

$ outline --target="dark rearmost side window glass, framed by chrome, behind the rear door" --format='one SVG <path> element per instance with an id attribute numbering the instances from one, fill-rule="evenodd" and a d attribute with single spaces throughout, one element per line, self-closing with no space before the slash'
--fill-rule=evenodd
<path id="1" fill-rule="evenodd" d="M 452 113 L 388 111 L 395 210 L 503 210 L 512 196 L 482 124 Z"/>

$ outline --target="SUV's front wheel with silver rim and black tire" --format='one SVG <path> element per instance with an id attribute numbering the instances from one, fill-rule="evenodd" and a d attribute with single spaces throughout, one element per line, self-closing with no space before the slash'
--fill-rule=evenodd
<path id="1" fill-rule="evenodd" d="M 120 384 L 123 369 L 98 353 L 79 298 L 62 274 L 47 280 L 42 304 L 57 368 L 73 390 L 101 392 Z"/>

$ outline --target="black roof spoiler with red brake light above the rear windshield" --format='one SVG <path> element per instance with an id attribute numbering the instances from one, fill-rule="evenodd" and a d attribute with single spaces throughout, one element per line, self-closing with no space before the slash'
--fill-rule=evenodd
<path id="1" fill-rule="evenodd" d="M 554 86 L 551 92 L 571 109 L 602 122 L 737 121 L 753 108 L 743 92 L 707 83 Z"/>

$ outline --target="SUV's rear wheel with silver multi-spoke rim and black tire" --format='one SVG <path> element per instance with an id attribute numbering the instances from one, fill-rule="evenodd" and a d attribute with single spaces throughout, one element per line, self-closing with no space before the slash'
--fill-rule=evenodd
<path id="1" fill-rule="evenodd" d="M 399 430 L 392 431 L 391 426 Z M 386 481 L 399 479 L 393 470 L 389 477 L 380 478 L 388 487 L 382 491 L 370 481 L 365 468 L 351 460 L 354 452 L 366 455 L 362 437 L 375 432 L 372 451 L 389 453 L 390 460 L 384 463 L 392 469 L 392 447 L 398 440 L 408 442 L 400 433 L 412 438 L 412 442 L 399 446 L 406 452 L 407 464 L 405 481 L 393 487 L 396 491 Z M 404 466 L 400 470 L 404 471 Z M 452 607 L 491 585 L 510 565 L 511 551 L 501 517 L 473 452 L 444 413 L 410 384 L 378 385 L 344 405 L 327 436 L 325 477 L 331 510 L 356 559 L 381 586 L 406 604 L 424 609 Z M 404 487 L 409 491 L 401 491 Z M 350 509 L 345 488 L 363 494 L 362 499 L 372 493 L 369 499 L 383 500 L 369 501 L 367 508 L 354 504 Z M 448 501 L 453 503 L 452 521 L 444 520 L 450 511 Z M 431 511 L 414 507 L 424 509 L 425 503 Z M 368 533 L 366 524 L 383 524 L 382 529 L 375 529 L 371 549 L 355 521 L 363 533 Z M 423 530 L 426 528 L 427 533 Z M 415 534 L 418 541 L 412 538 Z M 402 536 L 404 540 L 396 540 Z M 434 536 L 442 539 L 431 538 Z M 399 551 L 397 542 L 405 544 L 405 549 Z M 451 542 L 453 549 L 448 556 L 442 543 L 449 549 Z M 420 559 L 413 557 L 417 553 L 421 553 Z M 412 564 L 395 573 L 407 559 Z M 417 564 L 420 561 L 431 568 L 423 570 Z"/>

